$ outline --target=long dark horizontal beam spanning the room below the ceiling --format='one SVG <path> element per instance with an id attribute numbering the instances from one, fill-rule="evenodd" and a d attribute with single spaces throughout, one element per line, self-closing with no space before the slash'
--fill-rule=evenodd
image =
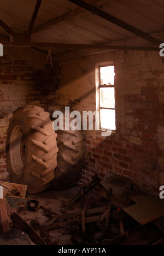
<path id="1" fill-rule="evenodd" d="M 14 42 L 1 42 L 3 46 L 14 47 L 51 47 L 51 48 L 73 48 L 73 49 L 108 49 L 108 50 L 139 50 L 139 51 L 160 51 L 159 47 L 145 47 L 145 46 L 121 46 L 121 45 L 92 45 L 92 44 L 56 44 L 56 43 L 14 43 Z"/>

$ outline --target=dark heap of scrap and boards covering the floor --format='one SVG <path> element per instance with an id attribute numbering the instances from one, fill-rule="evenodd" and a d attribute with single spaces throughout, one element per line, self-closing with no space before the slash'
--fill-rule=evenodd
<path id="1" fill-rule="evenodd" d="M 101 181 L 95 174 L 86 187 L 79 184 L 71 200 L 62 200 L 57 211 L 49 200 L 39 206 L 39 200 L 26 198 L 25 185 L 1 182 L 0 186 L 0 245 L 7 243 L 10 232 L 19 237 L 20 245 L 163 245 L 163 201 L 145 194 L 126 178 L 108 174 Z M 53 205 L 57 202 L 56 194 L 51 200 Z M 29 223 L 22 218 L 28 212 Z M 35 215 L 38 213 L 44 222 Z M 18 230 L 28 234 L 28 239 Z M 67 236 L 67 242 L 62 242 L 57 232 Z"/>

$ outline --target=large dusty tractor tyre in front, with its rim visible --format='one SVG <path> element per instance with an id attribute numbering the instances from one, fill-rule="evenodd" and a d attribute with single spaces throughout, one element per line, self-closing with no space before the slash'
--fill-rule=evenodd
<path id="1" fill-rule="evenodd" d="M 57 167 L 57 134 L 50 114 L 27 105 L 18 108 L 7 132 L 7 170 L 11 182 L 28 186 L 28 194 L 48 189 Z"/>

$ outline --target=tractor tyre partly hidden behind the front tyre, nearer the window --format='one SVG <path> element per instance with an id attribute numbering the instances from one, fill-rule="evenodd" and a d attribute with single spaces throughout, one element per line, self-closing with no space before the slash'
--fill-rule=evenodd
<path id="1" fill-rule="evenodd" d="M 65 109 L 60 106 L 49 108 L 50 117 L 52 117 L 55 110 L 60 110 L 65 117 Z M 56 133 L 59 149 L 57 154 L 58 167 L 55 170 L 55 179 L 51 182 L 51 189 L 65 190 L 76 185 L 82 177 L 84 155 L 86 153 L 85 135 L 82 131 L 72 130 L 58 130 Z"/>

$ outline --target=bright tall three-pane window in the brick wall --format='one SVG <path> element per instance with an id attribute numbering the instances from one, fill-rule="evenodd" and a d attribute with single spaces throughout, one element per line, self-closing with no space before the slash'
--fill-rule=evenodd
<path id="1" fill-rule="evenodd" d="M 100 126 L 102 130 L 116 130 L 115 125 L 115 88 L 114 66 L 97 66 L 97 110 L 100 114 Z"/>

